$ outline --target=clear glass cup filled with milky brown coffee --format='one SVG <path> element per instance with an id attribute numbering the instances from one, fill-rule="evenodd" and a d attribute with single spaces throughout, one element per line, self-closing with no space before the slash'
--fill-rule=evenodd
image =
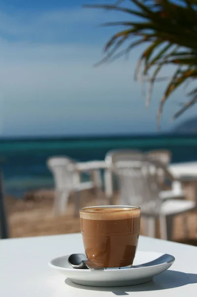
<path id="1" fill-rule="evenodd" d="M 80 224 L 88 260 L 103 268 L 132 266 L 140 233 L 140 207 L 84 207 Z"/>

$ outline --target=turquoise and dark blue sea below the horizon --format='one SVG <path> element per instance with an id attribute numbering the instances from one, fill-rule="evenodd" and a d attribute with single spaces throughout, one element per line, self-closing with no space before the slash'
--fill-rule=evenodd
<path id="1" fill-rule="evenodd" d="M 172 162 L 195 161 L 197 135 L 1 139 L 6 193 L 20 198 L 28 190 L 51 188 L 53 179 L 46 167 L 49 156 L 68 155 L 76 161 L 103 160 L 109 150 L 118 148 L 142 151 L 166 148 L 172 152 Z"/>

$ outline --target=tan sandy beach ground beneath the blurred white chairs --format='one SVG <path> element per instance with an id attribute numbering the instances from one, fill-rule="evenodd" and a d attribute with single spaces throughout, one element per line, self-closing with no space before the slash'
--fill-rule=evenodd
<path id="1" fill-rule="evenodd" d="M 190 191 L 189 191 L 190 190 Z M 185 187 L 188 198 L 192 198 L 191 189 Z M 53 214 L 53 190 L 39 190 L 30 192 L 24 199 L 17 200 L 6 197 L 9 231 L 11 238 L 43 236 L 54 234 L 66 234 L 80 232 L 79 218 L 74 217 L 74 199 L 69 198 L 64 215 L 54 217 Z M 104 194 L 102 204 L 108 204 Z M 115 195 L 118 202 L 118 195 Z M 96 205 L 94 191 L 85 191 L 81 197 L 81 206 Z M 174 221 L 173 240 L 197 246 L 197 212 L 188 214 L 189 234 L 183 238 L 183 217 L 177 216 Z M 141 234 L 143 235 L 143 220 Z M 158 233 L 158 232 L 157 232 Z M 159 238 L 159 234 L 157 235 Z"/>

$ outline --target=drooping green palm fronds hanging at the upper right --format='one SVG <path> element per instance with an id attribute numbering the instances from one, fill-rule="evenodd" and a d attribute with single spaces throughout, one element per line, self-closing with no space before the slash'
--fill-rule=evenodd
<path id="1" fill-rule="evenodd" d="M 158 124 L 163 105 L 169 96 L 183 83 L 197 79 L 197 0 L 129 0 L 131 8 L 115 5 L 85 5 L 86 7 L 115 10 L 125 13 L 131 20 L 105 23 L 103 26 L 120 26 L 117 34 L 111 37 L 104 51 L 106 56 L 100 63 L 111 61 L 127 54 L 140 44 L 148 44 L 139 58 L 136 78 L 149 82 L 147 105 L 152 89 L 163 66 L 172 64 L 174 73 L 168 81 L 158 109 Z M 127 1 L 128 2 L 128 1 Z M 120 47 L 126 42 L 125 49 Z M 187 108 L 197 102 L 197 88 L 188 94 L 188 101 L 176 112 L 180 116 Z"/>

